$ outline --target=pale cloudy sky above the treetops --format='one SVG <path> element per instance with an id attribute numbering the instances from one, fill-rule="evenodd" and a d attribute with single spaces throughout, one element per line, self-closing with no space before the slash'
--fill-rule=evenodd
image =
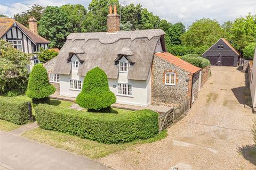
<path id="1" fill-rule="evenodd" d="M 100 1 L 100 0 L 99 0 Z M 91 0 L 0 0 L 0 14 L 21 13 L 32 4 L 42 6 L 63 4 L 82 4 L 86 8 Z M 216 19 L 221 24 L 234 21 L 249 12 L 256 14 L 256 0 L 119 0 L 125 4 L 141 4 L 150 12 L 171 23 L 182 22 L 186 26 L 202 18 Z"/>

